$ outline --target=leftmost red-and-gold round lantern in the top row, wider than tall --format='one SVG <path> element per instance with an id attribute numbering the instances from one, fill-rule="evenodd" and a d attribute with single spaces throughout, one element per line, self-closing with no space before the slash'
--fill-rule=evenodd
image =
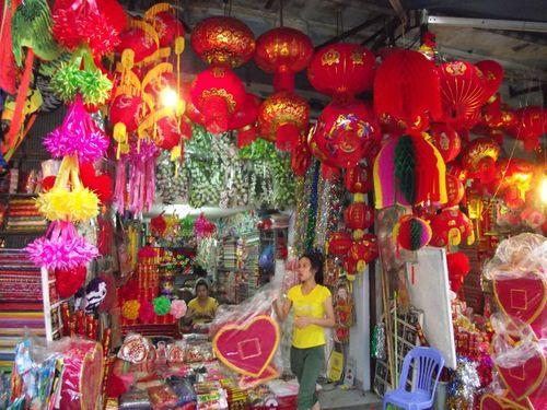
<path id="1" fill-rule="evenodd" d="M 194 27 L 191 48 L 208 65 L 235 68 L 253 57 L 255 36 L 237 19 L 208 17 Z"/>

